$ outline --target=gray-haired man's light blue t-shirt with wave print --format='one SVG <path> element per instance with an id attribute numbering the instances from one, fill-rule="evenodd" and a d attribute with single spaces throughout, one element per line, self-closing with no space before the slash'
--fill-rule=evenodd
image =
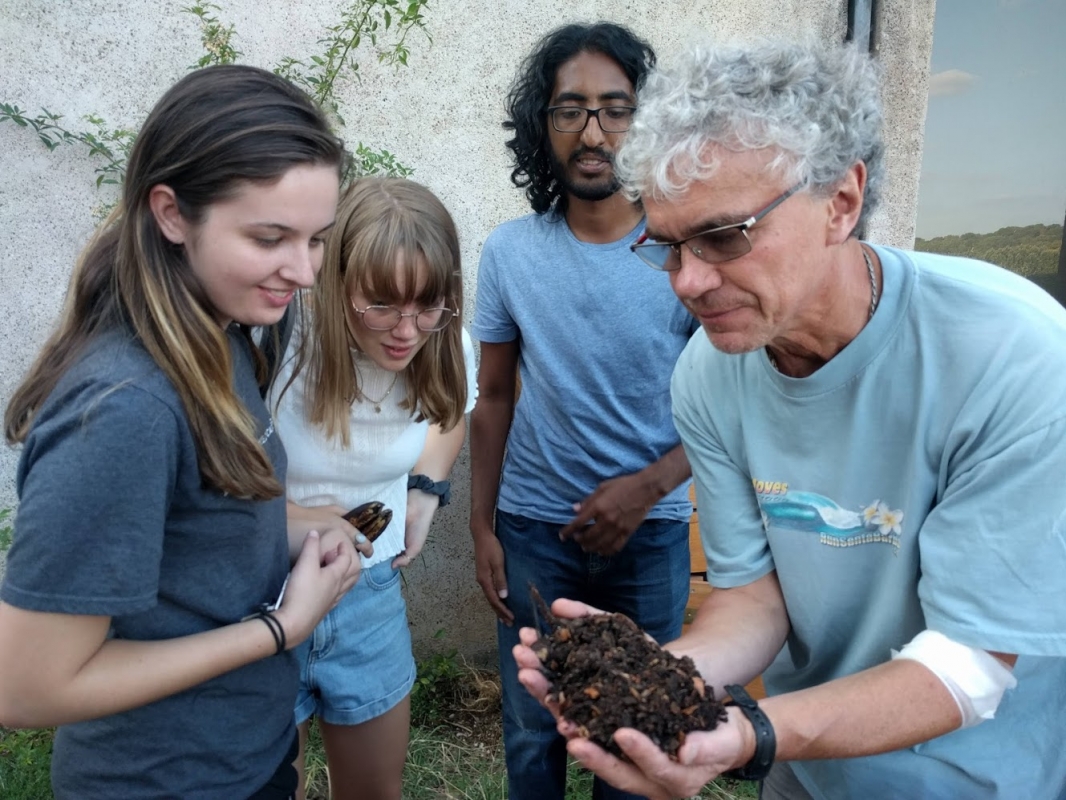
<path id="1" fill-rule="evenodd" d="M 815 798 L 1066 796 L 1066 311 L 990 265 L 876 247 L 873 319 L 808 378 L 695 336 L 673 381 L 709 579 L 777 571 L 793 691 L 931 628 L 1017 653 L 996 718 L 792 764 Z"/>

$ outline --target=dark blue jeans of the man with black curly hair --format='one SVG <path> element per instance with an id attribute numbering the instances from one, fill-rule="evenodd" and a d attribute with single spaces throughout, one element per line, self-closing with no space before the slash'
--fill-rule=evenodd
<path id="1" fill-rule="evenodd" d="M 562 525 L 496 512 L 496 535 L 503 547 L 507 607 L 515 624 L 497 624 L 503 686 L 503 745 L 508 800 L 562 800 L 566 793 L 566 742 L 555 720 L 518 683 L 511 652 L 518 628 L 533 627 L 529 582 L 551 604 L 559 597 L 582 601 L 631 618 L 656 641 L 681 634 L 689 601 L 689 521 L 648 519 L 621 553 L 603 557 L 559 541 Z M 595 800 L 635 798 L 599 779 Z"/>

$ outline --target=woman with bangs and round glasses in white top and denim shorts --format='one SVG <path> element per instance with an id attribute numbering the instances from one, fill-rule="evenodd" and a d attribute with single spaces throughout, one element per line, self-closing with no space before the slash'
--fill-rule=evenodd
<path id="1" fill-rule="evenodd" d="M 291 518 L 332 525 L 368 501 L 392 512 L 359 583 L 298 651 L 296 720 L 319 719 L 334 800 L 401 797 L 415 659 L 400 567 L 448 501 L 466 435 L 475 372 L 462 308 L 443 204 L 410 180 L 356 181 L 271 396 Z"/>

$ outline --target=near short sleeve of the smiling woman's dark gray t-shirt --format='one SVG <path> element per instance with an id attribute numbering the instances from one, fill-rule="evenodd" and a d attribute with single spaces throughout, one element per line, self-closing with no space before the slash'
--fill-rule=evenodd
<path id="1" fill-rule="evenodd" d="M 130 383 L 86 382 L 48 403 L 19 467 L 0 597 L 60 613 L 151 608 L 180 442 L 172 409 Z"/>

